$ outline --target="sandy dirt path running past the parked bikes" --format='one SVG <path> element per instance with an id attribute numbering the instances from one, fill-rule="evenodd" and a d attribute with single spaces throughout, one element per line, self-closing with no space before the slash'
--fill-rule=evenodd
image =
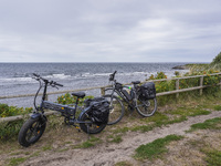
<path id="1" fill-rule="evenodd" d="M 140 165 L 131 156 L 135 149 L 150 143 L 157 138 L 165 137 L 170 134 L 191 136 L 185 133 L 192 124 L 202 123 L 206 120 L 221 117 L 221 112 L 212 112 L 209 115 L 189 117 L 188 121 L 168 125 L 167 127 L 155 128 L 154 131 L 139 133 L 127 132 L 123 136 L 119 144 L 99 144 L 95 147 L 86 149 L 70 149 L 63 153 L 40 155 L 32 160 L 27 160 L 23 166 L 113 166 L 117 162 L 128 160 L 134 165 Z"/>

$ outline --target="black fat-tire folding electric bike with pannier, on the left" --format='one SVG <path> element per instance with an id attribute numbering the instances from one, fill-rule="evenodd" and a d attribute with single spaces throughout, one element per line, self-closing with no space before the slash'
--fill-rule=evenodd
<path id="1" fill-rule="evenodd" d="M 44 129 L 46 127 L 46 122 L 48 122 L 48 118 L 44 114 L 44 110 L 52 110 L 52 111 L 60 112 L 62 116 L 64 116 L 65 124 L 73 125 L 78 129 L 81 128 L 87 134 L 99 133 L 106 127 L 106 124 L 108 121 L 108 114 L 109 114 L 109 104 L 104 97 L 97 97 L 96 100 L 87 101 L 87 105 L 81 107 L 81 106 L 77 106 L 78 98 L 83 98 L 85 96 L 85 93 L 75 92 L 75 93 L 72 93 L 72 95 L 76 96 L 77 100 L 76 100 L 76 103 L 72 106 L 52 103 L 52 102 L 45 101 L 48 86 L 57 89 L 57 86 L 63 86 L 63 85 L 54 81 L 49 81 L 46 79 L 43 79 L 38 74 L 33 74 L 33 75 L 34 75 L 33 79 L 40 82 L 40 87 L 34 97 L 35 111 L 33 112 L 31 117 L 22 125 L 19 132 L 20 145 L 28 147 L 40 139 L 40 137 L 44 133 Z M 41 101 L 40 106 L 38 107 L 35 101 L 42 87 L 44 87 L 42 101 Z M 75 113 L 77 110 L 81 111 L 81 114 L 78 115 L 78 117 L 75 116 Z M 102 116 L 103 120 L 102 121 L 101 118 L 97 120 L 98 116 Z M 80 127 L 76 125 L 76 123 L 80 125 Z"/>

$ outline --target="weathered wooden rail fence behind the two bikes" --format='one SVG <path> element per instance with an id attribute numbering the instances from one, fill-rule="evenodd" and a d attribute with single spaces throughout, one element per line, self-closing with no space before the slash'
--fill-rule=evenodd
<path id="1" fill-rule="evenodd" d="M 210 74 L 211 76 L 213 75 L 221 75 L 221 73 L 215 73 L 215 74 Z M 157 96 L 162 96 L 162 95 L 170 95 L 170 94 L 176 94 L 177 97 L 179 97 L 179 93 L 182 92 L 189 92 L 189 91 L 194 91 L 194 90 L 200 90 L 200 95 L 202 95 L 202 91 L 206 87 L 212 86 L 212 85 L 203 85 L 203 79 L 204 76 L 208 75 L 194 75 L 194 76 L 185 76 L 185 77 L 172 77 L 172 79 L 161 79 L 161 80 L 149 80 L 146 82 L 162 82 L 162 81 L 171 81 L 171 80 L 176 80 L 176 90 L 175 91 L 168 91 L 168 92 L 161 92 L 161 93 L 157 93 Z M 180 84 L 180 80 L 185 80 L 185 79 L 196 79 L 196 77 L 200 77 L 200 83 L 199 86 L 194 86 L 194 87 L 188 87 L 188 89 L 181 89 L 179 90 L 179 84 Z M 145 82 L 143 82 L 145 83 Z M 130 85 L 131 83 L 125 84 L 125 85 Z M 221 83 L 217 84 L 217 85 L 221 85 Z M 96 90 L 99 89 L 101 90 L 101 94 L 104 95 L 105 94 L 105 89 L 109 87 L 108 86 L 96 86 L 96 87 L 87 87 L 87 89 L 81 89 L 81 90 L 67 90 L 67 91 L 57 91 L 57 92 L 49 92 L 48 95 L 52 95 L 52 94 L 63 94 L 63 93 L 70 93 L 70 92 L 78 92 L 78 91 L 90 91 L 90 90 Z M 3 98 L 14 98 L 14 97 L 28 97 L 28 96 L 34 96 L 35 94 L 24 94 L 24 95 L 10 95 L 10 96 L 0 96 L 0 100 Z M 40 93 L 40 95 L 42 95 Z M 46 112 L 45 114 L 50 115 L 50 114 L 54 114 L 56 112 L 54 111 L 50 111 Z M 18 115 L 18 116 L 9 116 L 9 117 L 1 117 L 0 122 L 12 122 L 12 121 L 17 121 L 17 120 L 22 120 L 23 116 L 22 115 Z"/>

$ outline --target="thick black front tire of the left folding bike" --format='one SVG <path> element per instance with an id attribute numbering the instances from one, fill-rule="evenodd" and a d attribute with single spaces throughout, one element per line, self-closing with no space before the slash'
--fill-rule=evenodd
<path id="1" fill-rule="evenodd" d="M 28 136 L 28 132 L 30 131 L 30 128 L 32 127 L 32 125 L 34 123 L 39 123 L 42 126 L 40 128 L 38 128 L 39 133 L 38 135 L 35 135 L 33 138 L 31 138 L 30 141 L 27 139 Z M 38 125 L 39 125 L 38 124 Z M 24 147 L 29 147 L 31 144 L 36 143 L 40 137 L 42 136 L 42 134 L 44 133 L 46 127 L 46 122 L 42 122 L 41 118 L 29 118 L 21 127 L 20 132 L 19 132 L 19 144 L 24 146 Z M 34 131 L 36 132 L 36 131 Z"/>

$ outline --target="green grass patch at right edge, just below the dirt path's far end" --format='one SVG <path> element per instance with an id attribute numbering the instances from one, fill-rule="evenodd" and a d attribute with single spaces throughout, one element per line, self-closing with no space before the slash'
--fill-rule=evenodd
<path id="1" fill-rule="evenodd" d="M 217 126 L 218 124 L 221 124 L 221 117 L 215 117 L 212 120 L 207 120 L 203 123 L 193 124 L 187 132 L 193 132 L 197 129 L 221 129 L 221 126 Z"/>

